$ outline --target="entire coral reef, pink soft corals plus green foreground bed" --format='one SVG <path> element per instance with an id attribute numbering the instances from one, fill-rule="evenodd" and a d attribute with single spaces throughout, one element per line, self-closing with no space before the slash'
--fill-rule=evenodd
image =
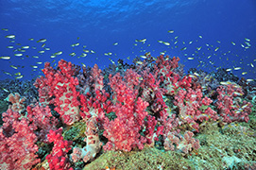
<path id="1" fill-rule="evenodd" d="M 255 167 L 251 85 L 225 70 L 212 80 L 196 69 L 186 75 L 179 58 L 145 56 L 103 71 L 46 62 L 33 101 L 6 89 L 1 169 Z"/>

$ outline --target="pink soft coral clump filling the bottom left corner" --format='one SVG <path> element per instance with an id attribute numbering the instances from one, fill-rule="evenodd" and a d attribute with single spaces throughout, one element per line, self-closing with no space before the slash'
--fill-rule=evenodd
<path id="1" fill-rule="evenodd" d="M 16 111 L 3 113 L 4 125 L 0 128 L 0 169 L 30 169 L 40 162 L 34 127 Z"/>

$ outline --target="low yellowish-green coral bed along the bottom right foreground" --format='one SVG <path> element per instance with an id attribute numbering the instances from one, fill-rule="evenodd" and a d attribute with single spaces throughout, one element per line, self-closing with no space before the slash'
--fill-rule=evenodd
<path id="1" fill-rule="evenodd" d="M 255 130 L 237 123 L 219 127 L 209 122 L 196 138 L 201 147 L 188 155 L 145 146 L 131 152 L 108 151 L 87 164 L 87 169 L 245 169 L 256 162 Z M 241 131 L 242 130 L 242 131 Z M 244 133 L 243 130 L 247 132 Z M 159 147 L 160 148 L 160 147 Z"/>

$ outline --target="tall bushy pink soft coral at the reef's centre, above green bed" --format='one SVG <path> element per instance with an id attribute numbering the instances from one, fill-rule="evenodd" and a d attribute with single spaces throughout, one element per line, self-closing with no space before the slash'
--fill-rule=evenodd
<path id="1" fill-rule="evenodd" d="M 130 79 L 139 77 L 133 71 L 128 70 L 126 78 Z M 144 148 L 146 139 L 139 131 L 145 125 L 144 119 L 147 115 L 145 111 L 148 103 L 138 97 L 138 91 L 135 88 L 138 85 L 137 80 L 124 81 L 120 74 L 110 76 L 110 85 L 113 91 L 114 104 L 111 110 L 115 112 L 116 118 L 109 120 L 105 118 L 104 136 L 109 142 L 104 145 L 105 150 L 124 150 L 130 151 L 138 146 Z"/>

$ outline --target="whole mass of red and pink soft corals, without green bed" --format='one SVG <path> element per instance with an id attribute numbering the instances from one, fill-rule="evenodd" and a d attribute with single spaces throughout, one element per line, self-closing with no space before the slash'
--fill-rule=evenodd
<path id="1" fill-rule="evenodd" d="M 252 105 L 242 86 L 185 75 L 178 62 L 147 55 L 132 65 L 120 60 L 103 71 L 95 64 L 82 72 L 63 59 L 56 69 L 45 62 L 44 76 L 34 83 L 38 102 L 26 106 L 19 93 L 7 98 L 0 169 L 70 170 L 103 152 L 140 151 L 156 143 L 185 156 L 200 148 L 196 134 L 203 125 L 249 120 Z M 84 128 L 84 141 L 64 139 L 72 127 Z"/>

